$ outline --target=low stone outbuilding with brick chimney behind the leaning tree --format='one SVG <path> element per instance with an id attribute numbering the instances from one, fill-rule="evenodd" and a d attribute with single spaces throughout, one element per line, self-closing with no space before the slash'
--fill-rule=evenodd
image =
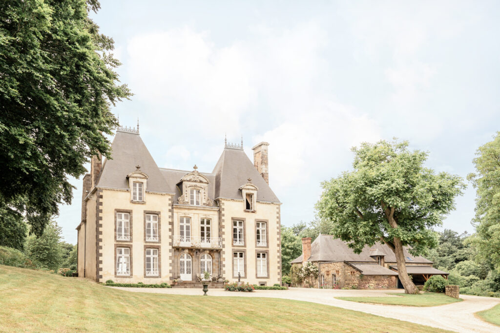
<path id="1" fill-rule="evenodd" d="M 404 248 L 406 270 L 416 285 L 421 285 L 431 275 L 448 273 L 432 267 L 432 261 L 423 256 L 411 255 Z M 313 287 L 390 289 L 402 287 L 397 277 L 394 252 L 385 244 L 365 246 L 356 254 L 347 243 L 332 235 L 320 234 L 312 243 L 310 237 L 302 238 L 302 255 L 291 261 L 291 274 L 306 262 L 318 267 L 318 277 Z M 294 276 L 292 276 L 294 280 Z M 300 285 L 306 286 L 304 282 Z"/>

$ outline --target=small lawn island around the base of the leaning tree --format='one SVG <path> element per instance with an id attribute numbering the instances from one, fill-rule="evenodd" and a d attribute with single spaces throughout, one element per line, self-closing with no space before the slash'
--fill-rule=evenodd
<path id="1" fill-rule="evenodd" d="M 388 305 L 406 305 L 406 306 L 436 306 L 454 302 L 461 299 L 446 296 L 444 293 L 425 292 L 418 295 L 405 293 L 387 293 L 388 295 L 397 295 L 398 297 L 335 297 L 337 299 L 350 300 L 361 303 L 375 303 Z"/>

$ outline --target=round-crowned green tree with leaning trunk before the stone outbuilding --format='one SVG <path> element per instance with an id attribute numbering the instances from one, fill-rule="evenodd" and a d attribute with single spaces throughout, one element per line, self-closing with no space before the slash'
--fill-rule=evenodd
<path id="1" fill-rule="evenodd" d="M 405 292 L 416 293 L 403 246 L 415 255 L 435 246 L 432 227 L 454 208 L 465 185 L 457 175 L 424 167 L 427 152 L 410 151 L 407 141 L 365 142 L 352 151 L 353 170 L 322 183 L 318 213 L 332 221 L 331 232 L 357 253 L 365 245 L 387 244 Z"/>

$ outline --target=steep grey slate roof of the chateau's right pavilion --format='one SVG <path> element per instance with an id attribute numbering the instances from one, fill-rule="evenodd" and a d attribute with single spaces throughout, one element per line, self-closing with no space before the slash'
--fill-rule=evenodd
<path id="1" fill-rule="evenodd" d="M 279 202 L 264 178 L 242 149 L 224 148 L 213 168 L 215 175 L 215 197 L 242 199 L 239 187 L 246 184 L 247 178 L 257 186 L 257 200 Z"/>

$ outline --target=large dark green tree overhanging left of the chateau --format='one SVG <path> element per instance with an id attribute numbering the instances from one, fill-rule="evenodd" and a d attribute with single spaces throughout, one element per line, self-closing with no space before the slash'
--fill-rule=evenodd
<path id="1" fill-rule="evenodd" d="M 68 175 L 83 174 L 97 152 L 109 155 L 110 106 L 130 92 L 118 84 L 113 40 L 88 17 L 98 8 L 0 1 L 0 233 L 15 214 L 41 235 L 57 204 L 71 201 Z"/>

